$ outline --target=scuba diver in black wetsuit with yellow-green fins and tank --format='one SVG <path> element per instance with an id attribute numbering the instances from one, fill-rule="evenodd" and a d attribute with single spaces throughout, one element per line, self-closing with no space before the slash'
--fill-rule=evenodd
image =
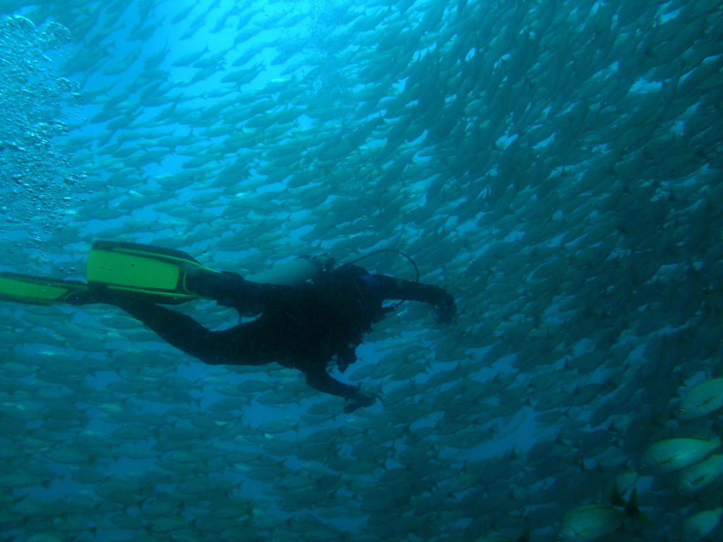
<path id="1" fill-rule="evenodd" d="M 350 413 L 372 405 L 376 396 L 334 379 L 327 365 L 335 358 L 343 372 L 356 361 L 354 350 L 362 335 L 398 305 L 382 306 L 385 300 L 432 304 L 442 323 L 451 322 L 456 313 L 452 296 L 419 283 L 418 270 L 416 281 L 401 280 L 369 274 L 356 262 L 334 267 L 328 257 L 303 256 L 244 278 L 204 267 L 182 251 L 95 241 L 88 254 L 87 283 L 0 273 L 0 299 L 111 304 L 206 364 L 277 362 L 299 369 L 310 386 L 343 397 L 344 412 Z M 211 331 L 187 314 L 161 306 L 197 298 L 257 318 Z"/>

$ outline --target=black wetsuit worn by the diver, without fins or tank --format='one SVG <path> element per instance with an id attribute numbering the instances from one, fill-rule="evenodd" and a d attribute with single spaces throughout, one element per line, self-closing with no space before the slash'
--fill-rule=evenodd
<path id="1" fill-rule="evenodd" d="M 187 285 L 223 306 L 261 314 L 227 330 L 210 331 L 186 314 L 142 299 L 115 298 L 112 303 L 207 364 L 275 361 L 304 371 L 307 384 L 317 390 L 348 399 L 355 399 L 359 388 L 330 377 L 328 361 L 337 356 L 340 367 L 346 368 L 356 360 L 354 349 L 362 335 L 388 311 L 382 301 L 434 304 L 442 321 L 455 312 L 453 298 L 442 288 L 369 275 L 354 265 L 323 272 L 314 283 L 294 286 L 253 283 L 231 272 L 192 276 Z"/>

